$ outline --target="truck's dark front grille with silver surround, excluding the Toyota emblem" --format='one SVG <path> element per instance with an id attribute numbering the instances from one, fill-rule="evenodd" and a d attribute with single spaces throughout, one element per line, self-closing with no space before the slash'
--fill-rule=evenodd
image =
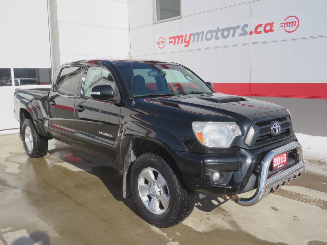
<path id="1" fill-rule="evenodd" d="M 272 132 L 272 125 L 276 122 L 281 124 L 281 132 L 276 135 Z M 275 118 L 263 122 L 253 123 L 245 138 L 245 143 L 252 147 L 258 147 L 267 143 L 283 139 L 293 134 L 291 120 L 287 117 Z"/>

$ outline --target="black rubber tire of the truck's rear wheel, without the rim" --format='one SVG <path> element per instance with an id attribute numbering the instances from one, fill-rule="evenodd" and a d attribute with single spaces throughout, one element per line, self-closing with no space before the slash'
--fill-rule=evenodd
<path id="1" fill-rule="evenodd" d="M 26 146 L 26 142 L 25 142 L 25 129 L 27 126 L 30 128 L 31 134 L 33 137 L 33 148 L 31 151 L 28 150 L 28 148 Z M 38 133 L 32 119 L 25 119 L 25 121 L 22 125 L 21 132 L 22 132 L 23 146 L 24 146 L 25 152 L 30 158 L 38 158 L 38 157 L 45 156 L 47 154 L 48 139 L 41 136 Z"/>

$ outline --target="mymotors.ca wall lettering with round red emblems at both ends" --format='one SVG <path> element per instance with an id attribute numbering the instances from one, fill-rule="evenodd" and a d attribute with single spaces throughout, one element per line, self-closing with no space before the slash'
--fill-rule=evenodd
<path id="1" fill-rule="evenodd" d="M 277 19 L 277 17 L 276 17 Z M 271 39 L 278 39 L 281 32 L 284 31 L 287 33 L 295 32 L 299 27 L 299 18 L 295 15 L 289 15 L 284 19 L 283 22 L 278 21 L 280 23 L 280 27 L 283 28 L 277 29 L 275 31 L 275 22 L 263 22 L 260 19 L 256 20 L 249 20 L 250 24 L 239 24 L 233 26 L 218 26 L 215 29 L 207 30 L 207 31 L 199 31 L 196 32 L 186 32 L 186 34 L 179 34 L 174 36 L 168 37 L 168 47 L 172 47 L 175 45 L 181 45 L 181 48 L 187 48 L 192 46 L 192 43 L 203 43 L 201 46 L 209 46 L 207 42 L 209 41 L 217 41 L 217 40 L 224 40 L 224 39 L 232 39 L 231 43 L 235 42 L 242 42 L 238 41 L 237 37 L 245 37 L 245 36 L 258 36 L 260 37 L 260 41 Z M 254 22 L 254 23 L 253 23 Z M 257 22 L 257 23 L 255 23 Z M 277 32 L 274 35 L 272 33 Z M 235 40 L 235 41 L 234 41 Z M 240 39 L 241 40 L 241 39 Z M 243 39 L 244 40 L 244 39 Z M 257 38 L 254 41 L 258 40 Z M 248 42 L 248 40 L 244 40 Z M 258 40 L 259 41 L 259 40 Z M 206 44 L 207 43 L 207 44 Z M 222 45 L 226 45 L 226 42 L 221 42 Z M 156 41 L 156 45 L 163 49 L 166 46 L 166 40 L 164 37 L 160 37 L 158 41 Z M 183 45 L 183 46 L 182 46 Z M 215 42 L 214 46 L 219 46 L 219 42 Z M 199 45 L 197 45 L 199 47 Z"/>

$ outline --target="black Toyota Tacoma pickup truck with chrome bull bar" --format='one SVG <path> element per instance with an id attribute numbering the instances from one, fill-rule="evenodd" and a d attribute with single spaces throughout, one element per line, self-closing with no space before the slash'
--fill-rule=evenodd
<path id="1" fill-rule="evenodd" d="M 250 206 L 304 173 L 286 108 L 216 93 L 177 63 L 66 63 L 51 89 L 16 89 L 14 105 L 27 155 L 57 139 L 122 165 L 124 198 L 158 227 L 187 218 L 196 191 Z"/>

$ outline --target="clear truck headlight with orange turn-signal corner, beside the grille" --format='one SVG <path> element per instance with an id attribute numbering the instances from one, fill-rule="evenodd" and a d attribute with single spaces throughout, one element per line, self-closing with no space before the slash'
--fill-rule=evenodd
<path id="1" fill-rule="evenodd" d="M 236 123 L 193 122 L 192 128 L 198 141 L 207 147 L 230 147 L 235 137 L 242 135 Z"/>

